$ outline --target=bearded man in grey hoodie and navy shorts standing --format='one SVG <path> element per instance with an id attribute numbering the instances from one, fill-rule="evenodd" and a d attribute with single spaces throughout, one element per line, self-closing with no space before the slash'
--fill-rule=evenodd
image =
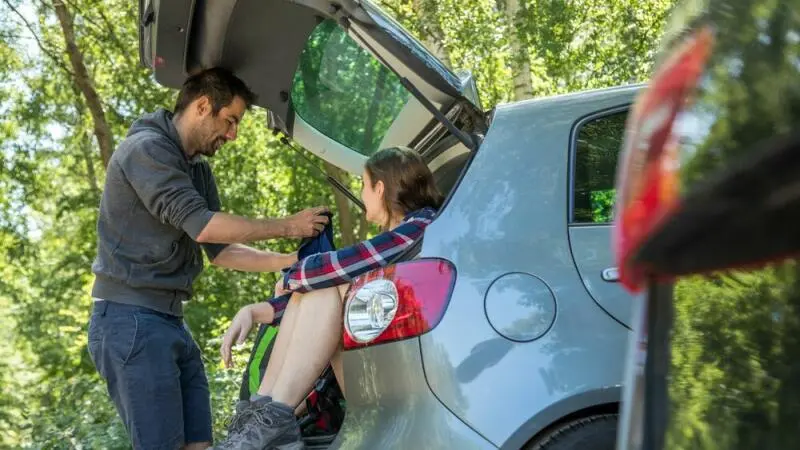
<path id="1" fill-rule="evenodd" d="M 296 255 L 247 242 L 314 236 L 328 218 L 311 208 L 284 219 L 219 212 L 212 157 L 236 139 L 254 95 L 223 69 L 184 83 L 175 111 L 146 114 L 111 157 L 97 226 L 89 352 L 136 449 L 211 445 L 208 381 L 182 304 L 203 268 L 270 272 Z"/>

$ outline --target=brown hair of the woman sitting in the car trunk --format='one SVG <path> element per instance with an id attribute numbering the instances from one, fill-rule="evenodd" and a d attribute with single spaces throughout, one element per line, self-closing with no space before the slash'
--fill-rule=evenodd
<path id="1" fill-rule="evenodd" d="M 364 165 L 372 180 L 372 187 L 383 182 L 383 201 L 389 217 L 384 228 L 392 219 L 422 208 L 438 209 L 443 196 L 436 187 L 425 161 L 419 153 L 405 147 L 391 147 L 373 154 Z"/>

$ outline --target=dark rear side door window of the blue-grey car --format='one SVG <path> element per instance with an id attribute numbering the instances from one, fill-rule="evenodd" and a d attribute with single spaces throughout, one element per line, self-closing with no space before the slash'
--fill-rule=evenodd
<path id="1" fill-rule="evenodd" d="M 617 174 L 628 111 L 590 119 L 578 128 L 572 187 L 572 223 L 603 224 L 613 219 Z"/>

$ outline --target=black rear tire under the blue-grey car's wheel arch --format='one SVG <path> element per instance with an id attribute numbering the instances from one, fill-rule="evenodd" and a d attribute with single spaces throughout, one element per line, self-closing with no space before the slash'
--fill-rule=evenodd
<path id="1" fill-rule="evenodd" d="M 523 450 L 614 450 L 617 415 L 602 414 L 566 422 Z"/>

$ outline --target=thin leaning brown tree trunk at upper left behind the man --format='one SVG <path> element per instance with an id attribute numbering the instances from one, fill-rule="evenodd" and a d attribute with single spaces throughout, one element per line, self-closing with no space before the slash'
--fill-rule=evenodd
<path id="1" fill-rule="evenodd" d="M 75 29 L 72 24 L 72 16 L 67 10 L 67 5 L 61 0 L 55 0 L 53 7 L 58 16 L 58 22 L 61 24 L 61 31 L 64 34 L 64 42 L 66 43 L 66 51 L 69 56 L 69 62 L 72 65 L 72 72 L 75 77 L 75 84 L 81 90 L 89 111 L 92 114 L 92 122 L 94 123 L 94 135 L 97 138 L 97 144 L 100 147 L 100 157 L 103 160 L 103 167 L 108 167 L 108 161 L 111 159 L 111 153 L 114 151 L 114 136 L 111 134 L 111 128 L 106 122 L 105 112 L 103 111 L 103 104 L 100 101 L 100 96 L 94 88 L 89 72 L 86 70 L 86 64 L 83 62 L 83 54 L 75 42 Z"/>

